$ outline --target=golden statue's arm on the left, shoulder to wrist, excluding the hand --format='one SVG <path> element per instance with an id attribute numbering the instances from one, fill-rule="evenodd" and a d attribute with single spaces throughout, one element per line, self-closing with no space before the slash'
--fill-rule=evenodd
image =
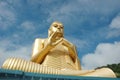
<path id="1" fill-rule="evenodd" d="M 41 63 L 45 56 L 47 55 L 48 51 L 50 51 L 51 47 L 49 45 L 44 44 L 42 40 L 36 39 L 33 47 L 33 54 L 31 61 Z"/>

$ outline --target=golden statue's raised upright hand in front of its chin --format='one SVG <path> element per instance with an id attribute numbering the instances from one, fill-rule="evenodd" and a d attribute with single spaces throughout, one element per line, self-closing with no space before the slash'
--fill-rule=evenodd
<path id="1" fill-rule="evenodd" d="M 53 32 L 53 34 L 48 38 L 48 45 L 51 47 L 55 47 L 56 45 L 58 45 L 59 43 L 61 43 L 63 41 L 62 37 L 58 36 L 59 33 Z"/>

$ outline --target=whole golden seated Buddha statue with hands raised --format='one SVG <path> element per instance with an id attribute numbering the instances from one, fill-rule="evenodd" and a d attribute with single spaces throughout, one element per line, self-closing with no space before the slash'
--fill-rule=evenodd
<path id="1" fill-rule="evenodd" d="M 31 61 L 9 58 L 2 68 L 43 74 L 116 77 L 109 68 L 81 70 L 76 48 L 64 38 L 63 28 L 62 23 L 53 22 L 48 38 L 35 40 Z"/>

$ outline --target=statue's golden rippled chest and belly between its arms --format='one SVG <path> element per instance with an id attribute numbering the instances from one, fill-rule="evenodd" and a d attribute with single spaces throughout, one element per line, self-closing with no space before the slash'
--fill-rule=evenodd
<path id="1" fill-rule="evenodd" d="M 45 57 L 42 65 L 53 67 L 56 69 L 70 68 L 72 69 L 73 61 L 69 56 L 69 52 L 66 47 L 59 45 L 49 51 L 48 55 Z"/>

